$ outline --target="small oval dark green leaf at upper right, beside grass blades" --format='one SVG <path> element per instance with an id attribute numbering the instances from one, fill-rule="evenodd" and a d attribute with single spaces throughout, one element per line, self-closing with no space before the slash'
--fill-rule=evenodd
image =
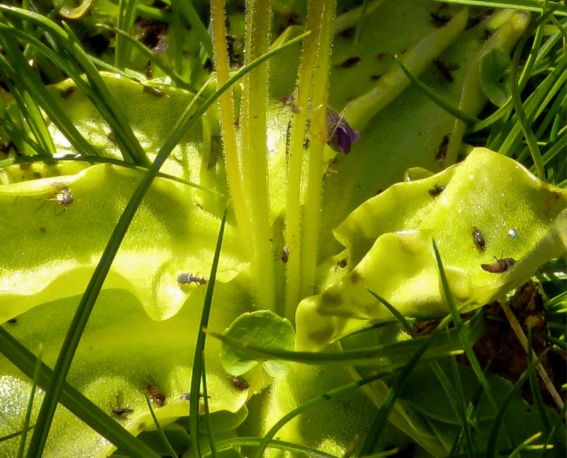
<path id="1" fill-rule="evenodd" d="M 496 106 L 503 106 L 507 99 L 507 75 L 512 61 L 507 52 L 493 49 L 481 60 L 481 84 L 488 99 Z"/>

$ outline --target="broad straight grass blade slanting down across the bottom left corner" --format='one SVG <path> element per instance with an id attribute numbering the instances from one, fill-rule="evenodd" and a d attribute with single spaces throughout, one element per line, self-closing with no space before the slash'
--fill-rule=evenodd
<path id="1" fill-rule="evenodd" d="M 39 364 L 38 385 L 47 386 L 49 384 L 53 374 L 52 369 L 43 362 L 38 363 L 38 358 L 35 354 L 21 345 L 4 328 L 0 328 L 0 351 L 30 379 L 33 379 L 35 367 Z M 120 447 L 121 450 L 130 453 L 132 457 L 158 458 L 157 454 L 152 452 L 150 447 L 137 440 L 130 432 L 112 420 L 103 410 L 67 383 L 62 388 L 61 403 L 84 423 L 93 428 L 93 430 L 106 437 L 116 447 Z M 36 428 L 42 428 L 37 422 L 35 424 Z M 17 432 L 13 436 L 20 434 L 21 432 Z"/>

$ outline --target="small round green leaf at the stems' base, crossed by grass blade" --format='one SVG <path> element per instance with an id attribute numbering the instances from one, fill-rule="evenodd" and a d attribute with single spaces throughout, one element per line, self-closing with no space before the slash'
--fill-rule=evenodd
<path id="1" fill-rule="evenodd" d="M 295 345 L 295 333 L 291 323 L 269 310 L 240 315 L 232 322 L 225 335 L 242 343 L 272 350 L 293 350 Z M 233 375 L 244 374 L 258 364 L 256 359 L 250 359 L 247 352 L 225 344 L 220 352 L 220 362 L 225 370 Z M 264 361 L 264 370 L 270 376 L 279 378 L 288 372 L 289 365 L 289 362 L 268 359 Z"/>

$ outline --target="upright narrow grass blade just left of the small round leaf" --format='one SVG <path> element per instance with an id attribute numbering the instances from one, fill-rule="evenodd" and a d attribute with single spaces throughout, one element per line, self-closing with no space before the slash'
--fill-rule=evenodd
<path id="1" fill-rule="evenodd" d="M 203 311 L 201 312 L 201 325 L 197 336 L 197 344 L 195 347 L 195 356 L 193 357 L 193 371 L 191 372 L 191 403 L 189 404 L 189 435 L 191 435 L 191 446 L 193 447 L 193 456 L 201 457 L 201 448 L 198 437 L 198 420 L 199 420 L 199 392 L 201 391 L 201 371 L 204 367 L 204 350 L 206 333 L 204 330 L 208 326 L 208 318 L 210 316 L 210 304 L 213 303 L 213 291 L 215 290 L 215 279 L 217 276 L 218 259 L 220 259 L 220 248 L 223 246 L 223 235 L 225 233 L 226 211 L 223 214 L 223 220 L 220 221 L 220 229 L 218 230 L 217 246 L 215 247 L 215 255 L 213 257 L 213 265 L 210 267 L 210 277 L 207 282 L 207 292 L 203 303 Z M 212 442 L 211 442 L 212 444 Z"/>

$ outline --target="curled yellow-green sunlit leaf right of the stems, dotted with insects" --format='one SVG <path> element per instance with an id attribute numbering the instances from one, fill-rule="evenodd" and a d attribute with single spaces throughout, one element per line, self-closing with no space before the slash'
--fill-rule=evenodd
<path id="1" fill-rule="evenodd" d="M 456 301 L 471 309 L 503 296 L 566 251 L 566 207 L 566 191 L 483 148 L 430 178 L 392 186 L 335 230 L 347 248 L 339 257 L 352 270 L 299 305 L 299 347 L 313 350 L 366 320 L 393 319 L 367 289 L 406 316 L 447 313 L 432 239 Z M 481 268 L 494 257 L 517 262 L 503 273 Z"/>

